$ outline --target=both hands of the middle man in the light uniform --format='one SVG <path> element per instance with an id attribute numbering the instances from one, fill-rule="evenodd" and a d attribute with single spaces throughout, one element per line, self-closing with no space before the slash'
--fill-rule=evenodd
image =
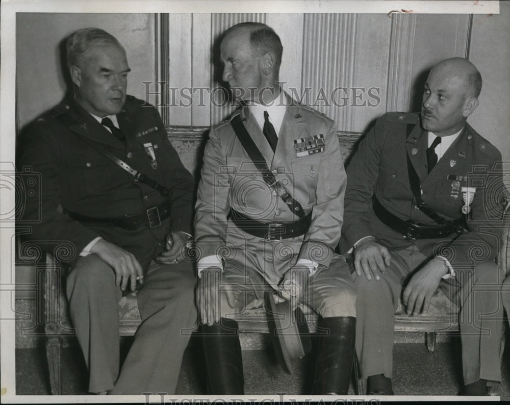
<path id="1" fill-rule="evenodd" d="M 278 284 L 275 302 L 288 300 L 292 309 L 295 309 L 303 297 L 303 291 L 308 283 L 310 270 L 307 266 L 295 265 L 282 277 Z M 218 323 L 221 316 L 221 293 L 225 294 L 228 306 L 232 309 L 239 307 L 234 296 L 234 289 L 227 283 L 221 283 L 222 269 L 220 267 L 208 267 L 203 269 L 198 280 L 197 300 L 200 323 L 211 326 Z M 221 290 L 220 290 L 220 284 Z"/>

